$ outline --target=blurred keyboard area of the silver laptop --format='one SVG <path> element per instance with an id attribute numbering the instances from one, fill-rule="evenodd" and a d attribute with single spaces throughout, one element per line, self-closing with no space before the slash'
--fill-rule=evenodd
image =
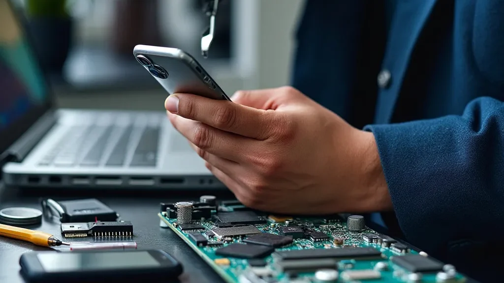
<path id="1" fill-rule="evenodd" d="M 155 167 L 160 132 L 160 125 L 152 123 L 74 126 L 39 165 Z"/>

